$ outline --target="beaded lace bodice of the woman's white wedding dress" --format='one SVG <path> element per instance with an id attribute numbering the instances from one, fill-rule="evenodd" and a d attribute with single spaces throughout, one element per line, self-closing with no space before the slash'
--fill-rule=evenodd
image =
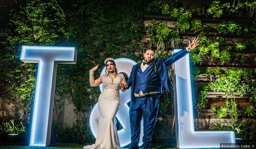
<path id="1" fill-rule="evenodd" d="M 102 77 L 104 90 L 105 89 L 114 89 L 114 90 L 118 91 L 118 93 L 120 90 L 120 82 L 122 80 L 125 80 L 124 75 L 121 73 L 118 74 L 118 76 L 113 80 L 113 82 L 109 76 L 106 76 L 106 74 L 102 75 L 101 77 Z"/>

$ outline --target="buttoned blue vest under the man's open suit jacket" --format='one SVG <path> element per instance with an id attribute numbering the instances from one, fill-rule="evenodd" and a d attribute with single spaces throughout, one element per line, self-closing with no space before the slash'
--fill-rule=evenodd
<path id="1" fill-rule="evenodd" d="M 157 77 L 153 64 L 151 63 L 144 72 L 139 66 L 135 77 L 134 93 L 161 92 L 161 82 Z"/>

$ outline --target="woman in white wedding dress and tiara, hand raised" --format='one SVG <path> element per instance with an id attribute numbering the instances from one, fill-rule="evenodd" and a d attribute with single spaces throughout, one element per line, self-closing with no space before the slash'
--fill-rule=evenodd
<path id="1" fill-rule="evenodd" d="M 117 134 L 115 116 L 120 105 L 119 90 L 121 89 L 122 92 L 125 91 L 123 89 L 125 86 L 120 86 L 120 83 L 122 81 L 125 82 L 125 79 L 123 74 L 117 73 L 113 58 L 107 58 L 104 63 L 106 66 L 106 74 L 100 76 L 97 80 L 94 80 L 93 72 L 98 68 L 98 65 L 90 70 L 90 85 L 98 86 L 103 82 L 104 90 L 100 94 L 98 100 L 100 119 L 95 145 L 84 146 L 84 149 L 121 148 Z"/>

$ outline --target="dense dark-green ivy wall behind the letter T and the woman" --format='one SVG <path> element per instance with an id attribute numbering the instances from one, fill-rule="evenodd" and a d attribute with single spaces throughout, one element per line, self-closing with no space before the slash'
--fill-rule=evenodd
<path id="1" fill-rule="evenodd" d="M 107 57 L 142 56 L 144 2 L 34 0 L 15 5 L 0 31 L 0 97 L 14 105 L 13 119 L 29 122 L 36 82 L 37 64 L 19 60 L 21 46 L 74 46 L 77 64 L 58 66 L 56 94 L 67 97 L 78 124 L 86 124 L 99 96 L 99 89 L 90 86 L 89 70 L 99 65 L 96 78 Z"/>

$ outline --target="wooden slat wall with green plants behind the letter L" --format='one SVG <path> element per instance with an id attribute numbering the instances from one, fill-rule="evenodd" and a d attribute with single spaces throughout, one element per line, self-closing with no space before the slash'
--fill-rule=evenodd
<path id="1" fill-rule="evenodd" d="M 255 141 L 256 1 L 212 1 L 209 6 L 188 7 L 179 6 L 179 1 L 151 2 L 145 44 L 168 51 L 187 47 L 191 36 L 199 37 L 200 45 L 190 57 L 196 129 L 232 130 L 243 141 Z"/>

